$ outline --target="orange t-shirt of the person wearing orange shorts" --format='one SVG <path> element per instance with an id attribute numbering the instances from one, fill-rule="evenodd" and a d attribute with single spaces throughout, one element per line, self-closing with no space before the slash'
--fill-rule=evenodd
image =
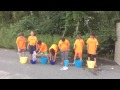
<path id="1" fill-rule="evenodd" d="M 82 53 L 83 51 L 83 46 L 84 46 L 84 41 L 83 39 L 77 39 L 74 43 L 74 46 L 75 46 L 75 52 L 76 53 Z"/>

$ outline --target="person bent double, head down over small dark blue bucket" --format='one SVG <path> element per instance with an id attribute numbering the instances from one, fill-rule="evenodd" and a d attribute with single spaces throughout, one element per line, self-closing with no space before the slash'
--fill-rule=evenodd
<path id="1" fill-rule="evenodd" d="M 49 48 L 49 60 L 48 63 L 53 60 L 56 61 L 56 55 L 58 52 L 58 46 L 56 44 L 53 44 L 50 48 Z"/>

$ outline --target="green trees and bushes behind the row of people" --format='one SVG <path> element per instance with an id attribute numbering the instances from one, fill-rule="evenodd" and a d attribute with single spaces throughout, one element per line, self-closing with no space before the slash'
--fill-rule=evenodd
<path id="1" fill-rule="evenodd" d="M 72 53 L 77 34 L 86 42 L 94 32 L 99 41 L 98 54 L 107 55 L 108 47 L 115 44 L 115 24 L 119 20 L 120 11 L 0 11 L 0 47 L 16 48 L 19 33 L 24 32 L 27 38 L 34 30 L 48 46 L 65 36 Z"/>

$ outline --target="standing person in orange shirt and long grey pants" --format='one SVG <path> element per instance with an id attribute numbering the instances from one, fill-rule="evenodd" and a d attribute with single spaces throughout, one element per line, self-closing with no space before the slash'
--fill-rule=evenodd
<path id="1" fill-rule="evenodd" d="M 67 39 L 65 39 L 65 37 L 63 37 L 62 40 L 59 41 L 58 46 L 61 51 L 61 59 L 62 59 L 61 64 L 63 64 L 64 60 L 68 60 L 70 43 Z"/>

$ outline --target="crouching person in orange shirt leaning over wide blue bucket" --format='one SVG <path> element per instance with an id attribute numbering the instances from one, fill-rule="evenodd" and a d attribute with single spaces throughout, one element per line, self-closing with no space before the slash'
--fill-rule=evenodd
<path id="1" fill-rule="evenodd" d="M 47 53 L 47 45 L 44 42 L 38 41 L 37 44 L 37 53 Z"/>

